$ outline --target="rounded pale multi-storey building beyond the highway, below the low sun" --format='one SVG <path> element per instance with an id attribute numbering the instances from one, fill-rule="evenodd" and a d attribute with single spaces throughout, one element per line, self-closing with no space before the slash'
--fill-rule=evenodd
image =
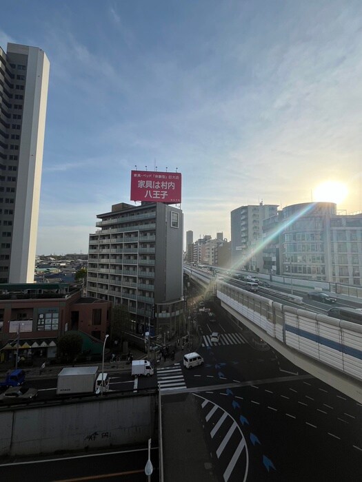
<path id="1" fill-rule="evenodd" d="M 362 284 L 362 213 L 338 214 L 333 202 L 304 202 L 265 220 L 263 229 L 265 273 Z"/>

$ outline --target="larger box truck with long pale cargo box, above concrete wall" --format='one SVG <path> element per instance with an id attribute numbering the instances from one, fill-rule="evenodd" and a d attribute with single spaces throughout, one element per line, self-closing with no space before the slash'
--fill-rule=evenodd
<path id="1" fill-rule="evenodd" d="M 103 386 L 102 386 L 103 380 Z M 63 368 L 58 375 L 57 395 L 74 393 L 107 392 L 110 386 L 108 373 L 99 372 L 98 366 L 77 366 Z"/>

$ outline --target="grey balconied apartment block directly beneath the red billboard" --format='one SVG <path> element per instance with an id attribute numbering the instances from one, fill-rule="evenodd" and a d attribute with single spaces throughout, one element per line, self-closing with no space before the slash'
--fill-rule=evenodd
<path id="1" fill-rule="evenodd" d="M 183 214 L 162 202 L 124 202 L 90 234 L 87 294 L 123 304 L 134 322 L 171 337 L 183 319 Z M 142 333 L 142 332 L 141 332 Z"/>

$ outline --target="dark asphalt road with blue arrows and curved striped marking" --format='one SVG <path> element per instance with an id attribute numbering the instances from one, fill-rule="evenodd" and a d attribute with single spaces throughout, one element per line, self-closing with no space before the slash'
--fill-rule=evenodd
<path id="1" fill-rule="evenodd" d="M 211 326 L 200 320 L 205 366 L 180 367 L 217 479 L 362 480 L 362 406 L 255 344 L 223 311 L 217 319 Z M 219 344 L 210 342 L 213 331 Z"/>

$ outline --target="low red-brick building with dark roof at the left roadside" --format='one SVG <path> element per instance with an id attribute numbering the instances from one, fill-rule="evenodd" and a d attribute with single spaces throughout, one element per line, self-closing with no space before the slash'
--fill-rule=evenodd
<path id="1" fill-rule="evenodd" d="M 103 342 L 111 305 L 82 297 L 79 286 L 68 283 L 0 284 L 0 361 L 14 355 L 18 333 L 24 357 L 55 357 L 57 339 L 66 331 Z"/>

